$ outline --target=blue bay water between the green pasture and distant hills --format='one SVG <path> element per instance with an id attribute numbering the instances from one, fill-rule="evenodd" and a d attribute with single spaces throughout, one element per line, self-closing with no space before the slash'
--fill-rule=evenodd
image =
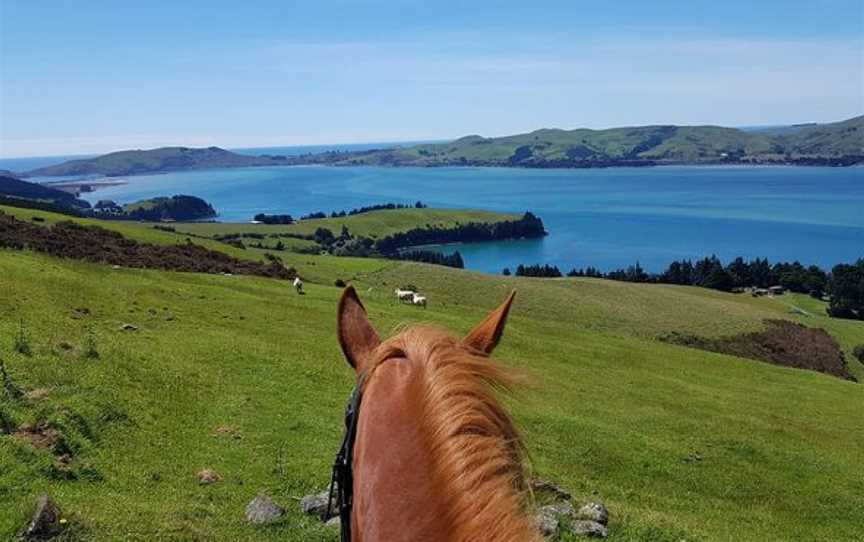
<path id="1" fill-rule="evenodd" d="M 87 195 L 129 202 L 192 194 L 223 221 L 256 213 L 330 212 L 422 200 L 434 207 L 522 213 L 545 222 L 544 239 L 451 245 L 467 267 L 498 273 L 519 263 L 562 271 L 716 254 L 830 267 L 864 256 L 864 169 L 663 167 L 507 168 L 267 167 L 145 175 Z"/>

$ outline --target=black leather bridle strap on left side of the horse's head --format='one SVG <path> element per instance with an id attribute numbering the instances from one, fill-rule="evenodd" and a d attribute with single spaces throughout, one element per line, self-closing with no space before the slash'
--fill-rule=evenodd
<path id="1" fill-rule="evenodd" d="M 345 436 L 333 462 L 330 479 L 330 495 L 327 498 L 327 517 L 331 517 L 334 502 L 339 507 L 339 524 L 342 542 L 351 542 L 351 509 L 354 505 L 354 441 L 357 440 L 357 422 L 360 417 L 360 402 L 363 400 L 363 384 L 366 372 L 360 373 L 357 385 L 345 408 Z"/>

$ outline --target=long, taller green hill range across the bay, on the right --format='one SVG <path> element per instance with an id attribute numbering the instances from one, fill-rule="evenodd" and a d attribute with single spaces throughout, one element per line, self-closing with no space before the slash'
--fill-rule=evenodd
<path id="1" fill-rule="evenodd" d="M 607 130 L 547 128 L 505 137 L 470 135 L 450 143 L 331 152 L 301 159 L 305 163 L 389 166 L 851 165 L 864 161 L 864 116 L 776 131 L 672 125 Z"/>

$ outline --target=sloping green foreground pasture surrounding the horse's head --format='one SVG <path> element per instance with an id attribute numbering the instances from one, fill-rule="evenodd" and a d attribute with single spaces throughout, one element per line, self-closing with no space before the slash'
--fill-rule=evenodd
<path id="1" fill-rule="evenodd" d="M 462 334 L 517 290 L 497 356 L 528 382 L 508 404 L 533 470 L 577 500 L 603 500 L 610 540 L 861 540 L 861 384 L 657 340 L 789 318 L 824 327 L 847 351 L 864 343 L 864 323 L 829 319 L 822 302 L 288 256 L 305 296 L 269 279 L 0 251 L 0 359 L 31 392 L 0 390 L 0 411 L 15 425 L 48 422 L 72 458 L 61 469 L 49 450 L 0 434 L 0 539 L 49 491 L 67 540 L 335 541 L 297 498 L 329 480 L 353 384 L 335 338 L 341 278 L 385 334 L 417 321 Z M 404 283 L 429 297 L 427 310 L 393 301 Z M 12 349 L 22 319 L 32 356 Z M 98 359 L 84 356 L 91 334 Z M 223 481 L 200 486 L 204 468 Z M 284 521 L 245 522 L 261 491 L 288 509 Z"/>

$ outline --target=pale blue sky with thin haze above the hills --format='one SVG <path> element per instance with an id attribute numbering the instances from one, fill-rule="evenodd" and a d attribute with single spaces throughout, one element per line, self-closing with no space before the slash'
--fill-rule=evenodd
<path id="1" fill-rule="evenodd" d="M 864 0 L 0 0 L 0 157 L 864 113 Z"/>

